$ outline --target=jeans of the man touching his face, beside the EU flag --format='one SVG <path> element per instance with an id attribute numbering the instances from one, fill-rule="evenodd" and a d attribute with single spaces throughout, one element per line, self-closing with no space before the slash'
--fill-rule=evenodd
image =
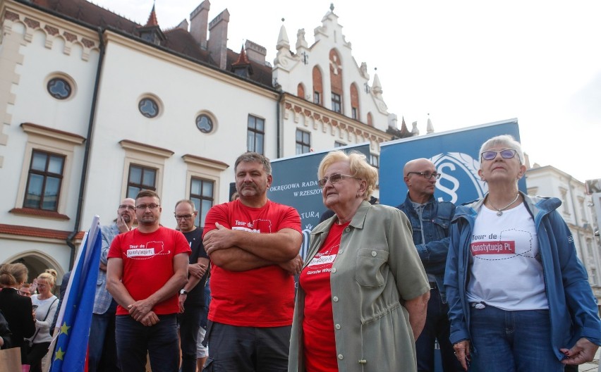
<path id="1" fill-rule="evenodd" d="M 87 368 L 89 372 L 119 372 L 115 342 L 115 312 L 117 303 L 111 302 L 104 314 L 92 314 Z M 102 364 L 101 364 L 102 359 Z"/>

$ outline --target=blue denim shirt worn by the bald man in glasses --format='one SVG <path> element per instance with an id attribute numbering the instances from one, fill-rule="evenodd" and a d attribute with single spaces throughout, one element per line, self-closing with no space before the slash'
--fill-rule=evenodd
<path id="1" fill-rule="evenodd" d="M 444 294 L 444 268 L 447 265 L 449 252 L 449 226 L 455 214 L 455 204 L 450 202 L 437 202 L 431 197 L 425 204 L 421 221 L 418 211 L 415 211 L 409 194 L 403 204 L 396 206 L 403 211 L 411 222 L 413 228 L 413 244 L 418 250 L 425 271 L 434 275 L 442 302 L 447 299 Z M 423 226 L 423 231 L 422 231 Z M 422 234 L 423 233 L 423 234 Z M 423 238 L 422 238 L 423 235 Z M 425 242 L 424 242 L 424 240 Z"/>

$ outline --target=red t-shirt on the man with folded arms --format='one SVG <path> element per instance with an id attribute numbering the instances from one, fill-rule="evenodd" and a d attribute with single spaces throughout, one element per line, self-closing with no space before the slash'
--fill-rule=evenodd
<path id="1" fill-rule="evenodd" d="M 261 208 L 250 208 L 239 200 L 213 206 L 205 219 L 205 234 L 216 222 L 250 233 L 277 233 L 284 228 L 301 233 L 296 209 L 271 201 Z M 210 320 L 240 327 L 292 324 L 294 279 L 284 269 L 271 265 L 235 272 L 211 267 Z"/>

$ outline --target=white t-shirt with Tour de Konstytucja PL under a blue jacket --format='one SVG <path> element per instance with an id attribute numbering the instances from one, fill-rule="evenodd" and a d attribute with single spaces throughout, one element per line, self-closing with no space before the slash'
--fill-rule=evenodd
<path id="1" fill-rule="evenodd" d="M 538 237 L 524 204 L 502 216 L 482 205 L 470 250 L 469 302 L 508 311 L 549 309 Z"/>

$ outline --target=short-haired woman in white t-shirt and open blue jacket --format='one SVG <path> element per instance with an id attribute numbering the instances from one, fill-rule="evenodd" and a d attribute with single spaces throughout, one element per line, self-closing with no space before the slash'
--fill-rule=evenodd
<path id="1" fill-rule="evenodd" d="M 593 360 L 601 322 L 557 198 L 518 191 L 526 173 L 509 135 L 480 148 L 482 199 L 458 206 L 444 286 L 457 359 L 476 371 L 564 371 Z"/>

